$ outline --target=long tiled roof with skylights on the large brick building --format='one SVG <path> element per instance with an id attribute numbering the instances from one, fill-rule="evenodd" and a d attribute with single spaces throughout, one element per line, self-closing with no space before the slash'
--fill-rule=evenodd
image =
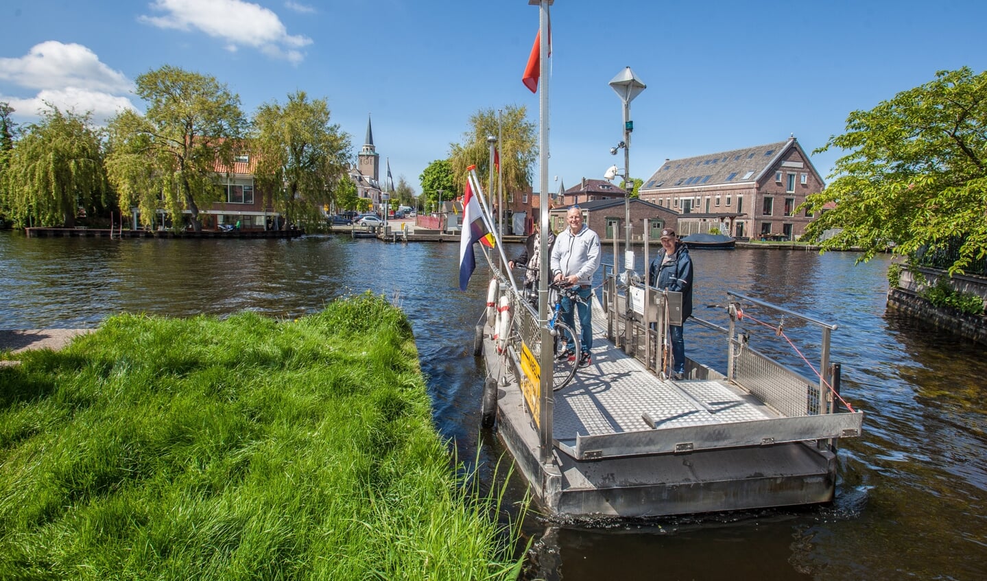
<path id="1" fill-rule="evenodd" d="M 642 184 L 640 191 L 667 187 L 754 182 L 768 170 L 796 139 L 668 160 Z"/>

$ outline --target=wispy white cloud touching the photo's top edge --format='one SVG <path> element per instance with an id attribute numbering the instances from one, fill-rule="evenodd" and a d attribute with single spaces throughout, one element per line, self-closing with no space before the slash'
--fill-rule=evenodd
<path id="1" fill-rule="evenodd" d="M 151 8 L 164 16 L 141 16 L 140 21 L 162 29 L 198 30 L 220 38 L 227 50 L 252 46 L 273 58 L 299 62 L 298 49 L 312 43 L 307 36 L 288 35 L 277 15 L 242 0 L 155 0 Z"/>

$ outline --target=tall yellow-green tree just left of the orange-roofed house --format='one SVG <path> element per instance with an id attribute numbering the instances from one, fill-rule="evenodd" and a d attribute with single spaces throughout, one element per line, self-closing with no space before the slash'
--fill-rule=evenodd
<path id="1" fill-rule="evenodd" d="M 214 77 L 168 65 L 136 84 L 147 114 L 124 110 L 110 122 L 107 172 L 119 205 L 136 205 L 145 225 L 162 205 L 173 217 L 188 211 L 199 232 L 199 207 L 222 199 L 217 173 L 232 168 L 244 148 L 240 98 Z M 183 222 L 175 219 L 173 227 Z"/>

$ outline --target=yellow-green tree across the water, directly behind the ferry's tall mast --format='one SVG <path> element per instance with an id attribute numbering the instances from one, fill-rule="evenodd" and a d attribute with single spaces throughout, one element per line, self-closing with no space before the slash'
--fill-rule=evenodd
<path id="1" fill-rule="evenodd" d="M 532 167 L 538 159 L 538 124 L 529 121 L 524 106 L 507 106 L 497 111 L 480 109 L 470 116 L 470 128 L 463 133 L 463 143 L 450 144 L 450 169 L 462 190 L 466 169 L 477 167 L 481 183 L 489 183 L 491 172 L 489 136 L 497 137 L 504 192 L 522 191 L 531 185 Z"/>

